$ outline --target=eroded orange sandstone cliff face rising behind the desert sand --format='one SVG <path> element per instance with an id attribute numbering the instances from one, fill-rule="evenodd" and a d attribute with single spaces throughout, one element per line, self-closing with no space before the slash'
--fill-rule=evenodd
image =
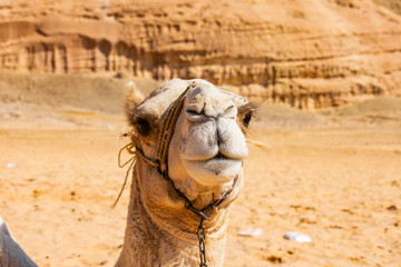
<path id="1" fill-rule="evenodd" d="M 204 78 L 251 99 L 335 107 L 401 96 L 401 17 L 371 0 L 9 0 L 0 68 Z"/>

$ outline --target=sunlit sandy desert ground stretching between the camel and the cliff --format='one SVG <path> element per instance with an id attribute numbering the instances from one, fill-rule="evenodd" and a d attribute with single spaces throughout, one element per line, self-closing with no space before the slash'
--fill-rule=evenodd
<path id="1" fill-rule="evenodd" d="M 110 209 L 125 176 L 123 112 L 3 88 L 0 214 L 13 236 L 39 266 L 113 266 L 129 194 Z M 319 112 L 263 106 L 251 138 L 272 149 L 251 148 L 225 266 L 400 266 L 400 115 L 401 100 L 387 97 Z M 246 228 L 262 234 L 237 235 Z"/>

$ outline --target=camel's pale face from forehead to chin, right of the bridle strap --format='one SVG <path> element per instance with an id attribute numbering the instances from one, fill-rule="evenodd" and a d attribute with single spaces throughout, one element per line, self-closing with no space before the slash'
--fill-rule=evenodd
<path id="1" fill-rule="evenodd" d="M 176 126 L 170 171 L 184 167 L 190 178 L 204 186 L 236 178 L 248 154 L 237 118 L 243 105 L 245 99 L 211 83 L 193 88 Z"/>

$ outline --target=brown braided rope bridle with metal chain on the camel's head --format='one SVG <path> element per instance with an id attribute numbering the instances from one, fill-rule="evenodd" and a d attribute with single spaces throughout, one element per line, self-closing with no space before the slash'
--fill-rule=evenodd
<path id="1" fill-rule="evenodd" d="M 186 96 L 188 95 L 188 91 L 196 87 L 197 83 L 194 81 L 190 83 L 186 90 L 168 107 L 167 109 L 167 118 L 163 125 L 163 129 L 159 136 L 159 142 L 158 142 L 158 150 L 156 155 L 156 159 L 150 159 L 145 156 L 144 151 L 135 146 L 135 144 L 129 144 L 123 149 L 127 149 L 128 152 L 135 154 L 139 156 L 147 165 L 157 168 L 157 171 L 172 185 L 172 187 L 175 189 L 177 195 L 184 200 L 185 208 L 187 210 L 190 210 L 193 214 L 195 214 L 199 218 L 199 226 L 197 228 L 197 238 L 199 241 L 199 259 L 200 259 L 200 267 L 206 267 L 206 230 L 204 226 L 204 221 L 208 218 L 208 216 L 228 197 L 228 195 L 233 191 L 237 178 L 235 178 L 233 187 L 224 194 L 224 196 L 221 199 L 214 200 L 213 202 L 205 206 L 203 209 L 197 209 L 194 207 L 192 201 L 175 186 L 174 181 L 168 176 L 168 148 L 169 144 L 174 134 L 175 126 L 177 123 L 179 113 L 184 106 L 184 100 Z M 121 149 L 121 150 L 123 150 Z M 135 149 L 135 151 L 134 151 Z M 127 165 L 129 161 L 127 161 L 125 165 Z M 130 164 L 130 168 L 134 166 L 135 159 L 133 159 L 133 162 Z M 124 166 L 125 166 L 124 165 Z M 129 169 L 130 169 L 129 168 Z M 129 171 L 129 170 L 128 170 Z"/>

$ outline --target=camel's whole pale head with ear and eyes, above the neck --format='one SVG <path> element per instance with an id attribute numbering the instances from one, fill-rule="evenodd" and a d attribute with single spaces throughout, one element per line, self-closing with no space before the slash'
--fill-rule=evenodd
<path id="1" fill-rule="evenodd" d="M 175 126 L 163 129 L 172 102 L 186 89 Z M 133 91 L 127 102 L 133 139 L 146 158 L 157 158 L 162 131 L 172 131 L 165 169 L 175 187 L 199 207 L 228 190 L 231 200 L 237 196 L 248 155 L 244 135 L 253 112 L 254 105 L 245 98 L 200 79 L 167 81 L 146 99 Z"/>

